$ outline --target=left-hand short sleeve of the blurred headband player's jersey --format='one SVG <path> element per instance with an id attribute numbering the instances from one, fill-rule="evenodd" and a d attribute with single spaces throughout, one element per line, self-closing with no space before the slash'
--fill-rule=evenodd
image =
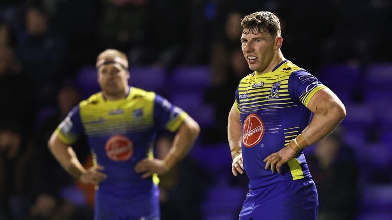
<path id="1" fill-rule="evenodd" d="M 70 111 L 67 117 L 56 128 L 59 138 L 66 144 L 74 143 L 79 136 L 83 135 L 84 128 L 80 118 L 79 105 Z"/>

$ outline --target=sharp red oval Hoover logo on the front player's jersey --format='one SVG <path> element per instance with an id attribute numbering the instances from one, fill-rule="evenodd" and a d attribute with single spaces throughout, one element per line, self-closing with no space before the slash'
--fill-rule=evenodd
<path id="1" fill-rule="evenodd" d="M 258 115 L 248 115 L 243 122 L 243 145 L 247 148 L 255 146 L 263 138 L 264 130 L 264 122 Z"/>

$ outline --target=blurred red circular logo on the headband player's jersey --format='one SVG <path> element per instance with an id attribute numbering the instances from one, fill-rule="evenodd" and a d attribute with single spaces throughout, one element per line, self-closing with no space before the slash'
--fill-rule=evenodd
<path id="1" fill-rule="evenodd" d="M 125 136 L 114 135 L 105 144 L 106 155 L 114 161 L 126 161 L 133 154 L 133 143 Z"/>

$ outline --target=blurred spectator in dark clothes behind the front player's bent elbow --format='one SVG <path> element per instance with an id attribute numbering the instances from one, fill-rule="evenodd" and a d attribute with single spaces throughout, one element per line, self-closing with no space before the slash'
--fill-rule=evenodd
<path id="1" fill-rule="evenodd" d="M 307 159 L 317 184 L 318 220 L 355 220 L 358 211 L 358 171 L 353 150 L 342 139 L 342 130 L 318 142 Z"/>

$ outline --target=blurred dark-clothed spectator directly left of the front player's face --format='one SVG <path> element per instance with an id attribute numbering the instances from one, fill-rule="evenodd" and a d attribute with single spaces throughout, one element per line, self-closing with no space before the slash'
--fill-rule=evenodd
<path id="1" fill-rule="evenodd" d="M 238 81 L 248 74 L 248 65 L 238 45 L 241 37 L 241 15 L 233 11 L 227 15 L 225 31 L 212 45 L 210 60 L 212 86 L 206 94 L 205 101 L 215 107 L 216 123 L 213 131 L 203 136 L 207 142 L 223 142 L 227 137 L 227 109 L 233 105 L 233 99 L 226 94 L 235 93 Z M 203 135 L 203 134 L 202 134 Z"/>

